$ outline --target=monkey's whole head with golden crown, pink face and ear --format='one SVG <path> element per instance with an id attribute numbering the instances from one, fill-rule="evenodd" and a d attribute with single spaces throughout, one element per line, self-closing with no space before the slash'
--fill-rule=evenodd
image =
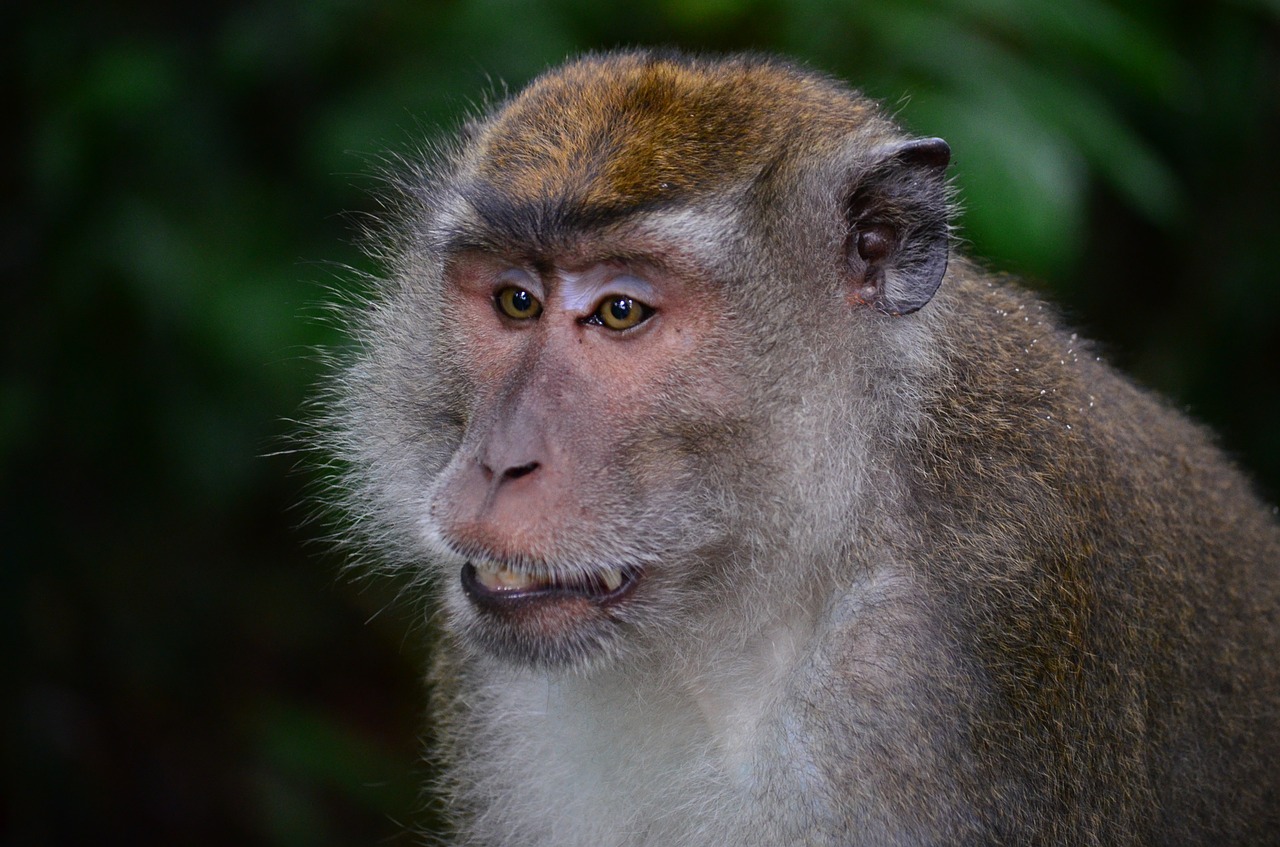
<path id="1" fill-rule="evenodd" d="M 431 563 L 463 645 L 538 665 L 799 590 L 806 563 L 751 563 L 856 523 L 849 432 L 892 438 L 902 412 L 814 386 L 910 394 L 897 351 L 946 270 L 948 157 L 769 59 L 536 79 L 402 183 L 340 422 L 365 523 Z"/>

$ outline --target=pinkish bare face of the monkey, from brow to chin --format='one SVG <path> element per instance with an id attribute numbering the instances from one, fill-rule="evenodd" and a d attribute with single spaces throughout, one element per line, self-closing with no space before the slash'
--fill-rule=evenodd
<path id="1" fill-rule="evenodd" d="M 444 333 L 470 402 L 430 518 L 456 554 L 445 596 L 470 641 L 575 661 L 669 609 L 689 573 L 664 563 L 721 534 L 701 459 L 728 443 L 735 409 L 727 372 L 707 379 L 724 308 L 712 292 L 634 252 L 448 262 Z"/>

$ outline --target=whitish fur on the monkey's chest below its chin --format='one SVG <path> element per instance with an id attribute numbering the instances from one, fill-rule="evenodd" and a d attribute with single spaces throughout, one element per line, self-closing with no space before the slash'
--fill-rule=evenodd
<path id="1" fill-rule="evenodd" d="M 783 704 L 803 650 L 776 627 L 696 664 L 492 679 L 468 728 L 479 734 L 468 775 L 486 809 L 476 843 L 754 842 L 741 829 L 762 777 L 781 788 L 777 751 L 796 734 Z"/>

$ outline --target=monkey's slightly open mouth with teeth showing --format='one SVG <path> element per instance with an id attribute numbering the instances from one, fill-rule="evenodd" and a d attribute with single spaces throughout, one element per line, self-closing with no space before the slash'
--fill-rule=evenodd
<path id="1" fill-rule="evenodd" d="M 640 578 L 634 568 L 596 568 L 581 573 L 526 573 L 499 562 L 467 562 L 462 589 L 479 606 L 511 610 L 516 606 L 588 600 L 611 605 L 628 595 Z"/>

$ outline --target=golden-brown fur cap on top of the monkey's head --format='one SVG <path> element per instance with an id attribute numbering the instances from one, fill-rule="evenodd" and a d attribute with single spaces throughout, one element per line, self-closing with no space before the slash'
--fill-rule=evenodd
<path id="1" fill-rule="evenodd" d="M 888 124 L 844 84 L 776 59 L 625 52 L 544 74 L 476 138 L 474 177 L 518 202 L 614 211 L 750 180 L 787 145 L 809 155 Z"/>

